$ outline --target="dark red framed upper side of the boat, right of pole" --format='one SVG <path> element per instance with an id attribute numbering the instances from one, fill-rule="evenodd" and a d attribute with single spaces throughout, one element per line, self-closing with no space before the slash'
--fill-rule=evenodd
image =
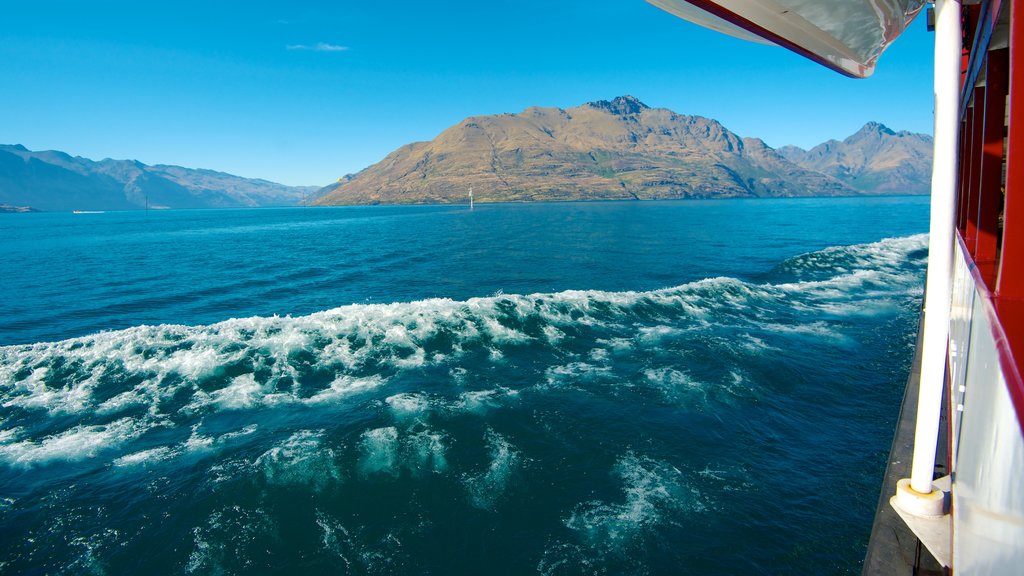
<path id="1" fill-rule="evenodd" d="M 1024 422 L 1024 84 L 1011 82 L 1024 75 L 1024 2 L 990 0 L 965 14 L 957 242 L 990 301 L 999 367 Z"/>

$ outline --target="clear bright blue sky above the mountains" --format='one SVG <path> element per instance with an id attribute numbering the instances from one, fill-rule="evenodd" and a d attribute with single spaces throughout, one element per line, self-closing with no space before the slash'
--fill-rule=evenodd
<path id="1" fill-rule="evenodd" d="M 5 2 L 0 143 L 327 184 L 472 115 L 633 94 L 809 148 L 932 131 L 919 17 L 872 78 L 642 0 Z"/>

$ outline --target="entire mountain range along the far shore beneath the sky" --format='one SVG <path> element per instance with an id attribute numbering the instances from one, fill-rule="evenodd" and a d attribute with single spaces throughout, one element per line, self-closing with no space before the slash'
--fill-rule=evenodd
<path id="1" fill-rule="evenodd" d="M 0 145 L 3 211 L 928 194 L 932 137 L 869 122 L 772 149 L 633 96 L 473 116 L 325 188 Z"/>

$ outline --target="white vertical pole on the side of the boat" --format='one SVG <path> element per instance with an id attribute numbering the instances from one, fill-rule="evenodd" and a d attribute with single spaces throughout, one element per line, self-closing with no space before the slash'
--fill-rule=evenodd
<path id="1" fill-rule="evenodd" d="M 961 3 L 935 3 L 935 155 L 932 160 L 932 221 L 928 240 L 928 283 L 921 360 L 921 393 L 913 440 L 910 488 L 932 492 L 935 447 L 945 388 L 956 202 L 956 149 L 959 130 Z"/>

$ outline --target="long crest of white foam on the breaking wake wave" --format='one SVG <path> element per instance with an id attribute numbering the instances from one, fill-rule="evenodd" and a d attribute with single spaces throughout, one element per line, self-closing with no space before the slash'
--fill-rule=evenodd
<path id="1" fill-rule="evenodd" d="M 0 436 L 0 460 L 74 460 L 77 454 L 98 451 L 96 442 L 117 446 L 169 421 L 190 425 L 221 411 L 349 402 L 352 395 L 380 389 L 402 372 L 446 368 L 445 363 L 457 367 L 450 369 L 452 380 L 465 385 L 468 372 L 459 369 L 470 364 L 464 360 L 475 365 L 482 353 L 490 363 L 511 362 L 507 359 L 516 346 L 561 351 L 577 343 L 581 336 L 573 334 L 582 326 L 606 334 L 581 342 L 587 346 L 584 351 L 591 351 L 584 353 L 587 362 L 566 361 L 545 370 L 540 377 L 547 385 L 607 378 L 615 356 L 638 347 L 646 354 L 685 344 L 693 330 L 712 321 L 730 322 L 746 332 L 752 331 L 750 324 L 783 336 L 806 334 L 843 343 L 833 325 L 813 315 L 895 310 L 897 303 L 884 310 L 877 303 L 920 294 L 921 262 L 909 256 L 926 248 L 926 235 L 828 248 L 783 265 L 799 273 L 797 278 L 810 280 L 778 285 L 714 278 L 646 292 L 567 290 L 465 301 L 352 304 L 303 317 L 139 326 L 59 342 L 2 346 L 0 418 L 25 410 L 39 413 L 49 419 L 40 423 L 52 425 L 41 426 L 48 430 L 43 438 Z M 779 322 L 772 317 L 778 306 L 803 316 L 794 325 Z M 734 345 L 741 354 L 759 354 L 763 344 L 751 337 Z M 112 389 L 119 381 L 132 384 Z M 309 381 L 321 389 L 308 389 Z M 282 382 L 290 382 L 289 389 L 279 389 Z M 492 398 L 465 397 L 459 403 L 477 411 L 486 409 Z M 424 395 L 393 395 L 387 403 L 399 419 L 459 408 L 459 403 Z M 95 423 L 139 407 L 145 408 L 145 415 L 124 426 L 132 436 L 112 435 L 108 424 Z M 186 451 L 205 442 L 199 437 L 194 441 Z"/>

